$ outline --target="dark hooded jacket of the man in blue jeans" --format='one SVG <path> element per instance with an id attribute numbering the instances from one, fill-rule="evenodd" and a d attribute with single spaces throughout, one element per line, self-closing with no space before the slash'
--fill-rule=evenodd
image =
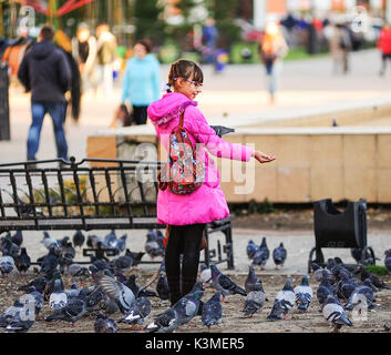
<path id="1" fill-rule="evenodd" d="M 33 102 L 65 102 L 64 93 L 71 88 L 69 61 L 53 42 L 35 43 L 25 53 L 18 78 Z"/>

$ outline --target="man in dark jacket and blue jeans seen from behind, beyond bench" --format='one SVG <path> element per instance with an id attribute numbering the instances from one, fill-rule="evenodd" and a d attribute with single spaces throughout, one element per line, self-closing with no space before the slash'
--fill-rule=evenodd
<path id="1" fill-rule="evenodd" d="M 38 38 L 24 55 L 18 78 L 27 91 L 31 91 L 32 123 L 28 136 L 28 160 L 35 160 L 43 118 L 49 113 L 53 120 L 58 158 L 68 161 L 64 132 L 66 99 L 72 73 L 68 59 L 54 43 L 54 30 L 44 24 Z"/>

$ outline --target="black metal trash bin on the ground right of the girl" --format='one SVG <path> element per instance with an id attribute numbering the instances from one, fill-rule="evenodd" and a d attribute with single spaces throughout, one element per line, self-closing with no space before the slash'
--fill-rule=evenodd
<path id="1" fill-rule="evenodd" d="M 309 255 L 308 273 L 311 272 L 312 261 L 321 266 L 326 265 L 322 247 L 360 248 L 361 262 L 369 252 L 370 263 L 375 263 L 374 252 L 367 245 L 366 200 L 348 202 L 343 212 L 339 211 L 330 199 L 313 202 L 313 230 L 316 244 Z M 313 253 L 315 260 L 312 260 Z"/>

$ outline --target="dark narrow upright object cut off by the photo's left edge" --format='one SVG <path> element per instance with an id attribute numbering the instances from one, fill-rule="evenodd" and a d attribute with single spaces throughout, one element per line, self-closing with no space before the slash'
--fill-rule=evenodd
<path id="1" fill-rule="evenodd" d="M 9 141 L 10 134 L 10 106 L 9 106 L 9 78 L 7 63 L 0 62 L 0 141 Z"/>

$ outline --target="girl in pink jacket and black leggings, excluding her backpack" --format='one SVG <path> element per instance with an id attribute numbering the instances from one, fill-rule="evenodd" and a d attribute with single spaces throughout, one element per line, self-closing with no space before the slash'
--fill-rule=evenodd
<path id="1" fill-rule="evenodd" d="M 168 151 L 169 134 L 178 126 L 184 113 L 184 129 L 195 148 L 197 156 L 204 160 L 204 183 L 187 195 L 177 195 L 166 189 L 157 194 L 157 222 L 167 224 L 169 239 L 165 251 L 165 267 L 174 304 L 189 293 L 196 282 L 202 236 L 206 223 L 229 216 L 229 210 L 219 184 L 219 174 L 208 152 L 218 158 L 249 161 L 251 156 L 260 163 L 275 160 L 275 156 L 254 151 L 241 144 L 222 140 L 209 126 L 194 99 L 200 92 L 204 75 L 192 61 L 177 60 L 171 67 L 168 92 L 150 104 L 148 118 L 155 126 L 162 145 Z M 199 145 L 200 143 L 200 145 Z M 182 267 L 179 255 L 183 254 Z"/>

